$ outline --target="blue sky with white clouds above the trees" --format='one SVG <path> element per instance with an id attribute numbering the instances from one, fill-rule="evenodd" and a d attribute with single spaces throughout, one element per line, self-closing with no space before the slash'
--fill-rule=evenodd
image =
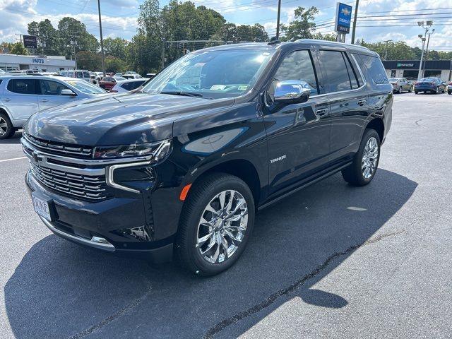
<path id="1" fill-rule="evenodd" d="M 270 36 L 275 35 L 278 0 L 198 0 L 196 6 L 206 6 L 222 13 L 228 21 L 237 24 L 260 23 Z M 136 32 L 138 6 L 143 0 L 101 0 L 102 23 L 105 37 L 123 37 L 130 40 Z M 168 1 L 161 1 L 164 6 Z M 355 1 L 344 1 L 355 6 Z M 281 22 L 293 19 L 297 6 L 316 6 L 320 10 L 316 23 L 319 32 L 331 32 L 336 1 L 283 0 Z M 434 20 L 435 32 L 430 46 L 452 51 L 450 27 L 452 25 L 452 0 L 360 0 L 357 38 L 367 42 L 383 40 L 408 42 L 421 46 L 417 37 L 423 30 L 417 20 Z M 403 15 L 391 17 L 391 15 Z M 97 0 L 1 0 L 0 41 L 14 41 L 16 34 L 25 33 L 27 23 L 49 18 L 56 26 L 64 16 L 72 16 L 85 23 L 89 32 L 98 37 Z M 384 16 L 384 17 L 381 17 Z M 382 20 L 383 19 L 383 20 Z M 449 28 L 448 28 L 449 27 Z M 350 35 L 347 36 L 350 42 Z"/>

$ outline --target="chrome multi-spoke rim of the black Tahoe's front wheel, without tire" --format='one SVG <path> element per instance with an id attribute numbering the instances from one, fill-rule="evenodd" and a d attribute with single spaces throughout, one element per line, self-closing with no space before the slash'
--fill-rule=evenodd
<path id="1" fill-rule="evenodd" d="M 248 226 L 248 206 L 234 190 L 217 194 L 203 210 L 196 248 L 208 263 L 222 263 L 234 255 Z"/>

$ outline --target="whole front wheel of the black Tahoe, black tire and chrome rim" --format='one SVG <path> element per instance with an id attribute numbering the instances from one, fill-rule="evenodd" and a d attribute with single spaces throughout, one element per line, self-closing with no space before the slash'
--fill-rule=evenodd
<path id="1" fill-rule="evenodd" d="M 186 198 L 177 236 L 179 261 L 191 273 L 221 273 L 243 253 L 253 227 L 249 186 L 230 174 L 208 174 Z"/>

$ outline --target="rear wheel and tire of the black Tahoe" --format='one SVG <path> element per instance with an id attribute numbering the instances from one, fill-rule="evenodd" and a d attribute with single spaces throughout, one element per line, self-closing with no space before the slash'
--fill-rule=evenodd
<path id="1" fill-rule="evenodd" d="M 374 129 L 366 129 L 359 149 L 350 166 L 342 170 L 342 177 L 353 186 L 369 184 L 375 177 L 380 160 L 380 137 Z"/>

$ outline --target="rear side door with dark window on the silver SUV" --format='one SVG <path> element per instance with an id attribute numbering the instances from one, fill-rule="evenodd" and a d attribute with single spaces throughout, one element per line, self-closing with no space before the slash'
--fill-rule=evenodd
<path id="1" fill-rule="evenodd" d="M 8 107 L 14 120 L 28 119 L 39 110 L 36 90 L 36 79 L 9 79 L 1 102 Z"/>

